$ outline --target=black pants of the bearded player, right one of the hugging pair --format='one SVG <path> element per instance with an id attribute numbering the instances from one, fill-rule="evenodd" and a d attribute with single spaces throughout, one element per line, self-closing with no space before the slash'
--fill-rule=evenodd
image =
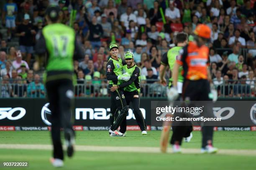
<path id="1" fill-rule="evenodd" d="M 124 91 L 125 100 L 127 105 L 130 105 L 132 103 L 133 105 L 133 113 L 136 118 L 136 121 L 141 129 L 141 131 L 147 130 L 146 121 L 142 115 L 142 112 L 140 110 L 140 94 L 137 91 L 133 92 L 127 92 Z M 137 95 L 138 97 L 134 97 L 134 95 Z M 124 122 L 125 121 L 125 122 Z M 120 125 L 120 132 L 125 133 L 126 131 L 126 117 L 123 120 L 123 123 Z"/>

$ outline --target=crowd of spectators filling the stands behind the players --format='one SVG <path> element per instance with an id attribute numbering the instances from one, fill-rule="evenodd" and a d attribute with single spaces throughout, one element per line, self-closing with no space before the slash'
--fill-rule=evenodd
<path id="1" fill-rule="evenodd" d="M 45 57 L 34 55 L 33 46 L 49 5 L 59 5 L 61 23 L 84 45 L 84 58 L 74 61 L 77 96 L 108 95 L 102 79 L 111 43 L 119 45 L 122 59 L 133 52 L 142 95 L 158 96 L 161 56 L 175 45 L 177 32 L 192 41 L 199 23 L 212 29 L 210 70 L 219 96 L 256 95 L 254 0 L 1 0 L 1 97 L 45 97 Z"/>

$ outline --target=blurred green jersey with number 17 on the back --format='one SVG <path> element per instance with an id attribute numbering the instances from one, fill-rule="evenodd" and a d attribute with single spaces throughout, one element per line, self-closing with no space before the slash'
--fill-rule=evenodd
<path id="1" fill-rule="evenodd" d="M 43 28 L 42 34 L 49 53 L 46 71 L 73 71 L 75 32 L 67 25 L 56 23 Z"/>

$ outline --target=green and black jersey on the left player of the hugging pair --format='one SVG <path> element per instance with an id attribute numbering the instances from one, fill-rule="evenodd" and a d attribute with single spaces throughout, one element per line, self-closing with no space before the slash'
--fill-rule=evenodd
<path id="1" fill-rule="evenodd" d="M 123 74 L 123 65 L 126 64 L 123 62 L 121 58 L 118 58 L 118 60 L 113 59 L 110 57 L 107 63 L 106 67 L 106 77 L 109 81 L 110 85 L 120 85 L 120 80 L 117 79 L 118 75 Z"/>

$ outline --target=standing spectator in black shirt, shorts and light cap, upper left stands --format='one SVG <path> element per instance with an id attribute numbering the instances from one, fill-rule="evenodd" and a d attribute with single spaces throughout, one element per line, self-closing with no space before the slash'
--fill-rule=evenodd
<path id="1" fill-rule="evenodd" d="M 20 37 L 20 51 L 28 64 L 30 64 L 31 55 L 33 54 L 33 40 L 36 35 L 33 25 L 29 23 L 30 16 L 24 15 L 22 24 L 18 25 L 16 35 Z"/>

